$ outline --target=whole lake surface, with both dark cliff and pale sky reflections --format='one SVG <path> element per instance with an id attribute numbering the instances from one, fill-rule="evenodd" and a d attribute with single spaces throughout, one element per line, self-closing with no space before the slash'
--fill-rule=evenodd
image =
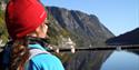
<path id="1" fill-rule="evenodd" d="M 139 54 L 128 51 L 61 53 L 66 70 L 139 70 Z"/>

